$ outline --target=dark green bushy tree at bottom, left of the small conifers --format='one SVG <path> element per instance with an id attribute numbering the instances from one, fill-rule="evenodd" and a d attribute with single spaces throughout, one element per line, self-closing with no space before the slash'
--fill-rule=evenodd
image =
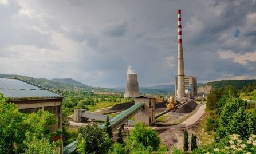
<path id="1" fill-rule="evenodd" d="M 79 153 L 108 153 L 112 147 L 112 139 L 96 124 L 83 125 L 78 131 L 80 134 L 76 146 Z"/>

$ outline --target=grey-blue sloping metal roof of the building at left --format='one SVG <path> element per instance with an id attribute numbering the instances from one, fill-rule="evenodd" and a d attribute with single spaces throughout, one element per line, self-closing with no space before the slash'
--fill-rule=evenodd
<path id="1" fill-rule="evenodd" d="M 54 92 L 42 86 L 20 79 L 0 78 L 0 93 L 6 98 L 27 97 L 62 97 L 61 93 Z"/>

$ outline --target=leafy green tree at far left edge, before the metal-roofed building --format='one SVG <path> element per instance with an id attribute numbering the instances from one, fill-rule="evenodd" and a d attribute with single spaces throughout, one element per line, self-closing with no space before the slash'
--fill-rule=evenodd
<path id="1" fill-rule="evenodd" d="M 17 105 L 8 103 L 0 93 L 0 153 L 22 153 L 26 127 Z"/>

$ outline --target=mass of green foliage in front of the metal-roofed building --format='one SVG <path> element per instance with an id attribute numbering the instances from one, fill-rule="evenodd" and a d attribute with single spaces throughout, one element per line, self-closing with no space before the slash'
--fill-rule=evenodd
<path id="1" fill-rule="evenodd" d="M 0 153 L 44 153 L 56 151 L 60 140 L 53 141 L 61 131 L 50 132 L 49 125 L 56 119 L 48 111 L 23 114 L 17 105 L 9 103 L 0 94 Z"/>

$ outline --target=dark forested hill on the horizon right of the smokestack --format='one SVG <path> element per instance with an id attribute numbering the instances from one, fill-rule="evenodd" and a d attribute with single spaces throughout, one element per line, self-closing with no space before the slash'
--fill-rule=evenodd
<path id="1" fill-rule="evenodd" d="M 235 89 L 241 90 L 244 86 L 248 86 L 249 84 L 255 83 L 256 80 L 221 80 L 221 81 L 214 81 L 214 82 L 208 82 L 202 86 L 205 85 L 211 85 L 215 88 L 220 88 L 223 86 L 234 86 Z"/>

